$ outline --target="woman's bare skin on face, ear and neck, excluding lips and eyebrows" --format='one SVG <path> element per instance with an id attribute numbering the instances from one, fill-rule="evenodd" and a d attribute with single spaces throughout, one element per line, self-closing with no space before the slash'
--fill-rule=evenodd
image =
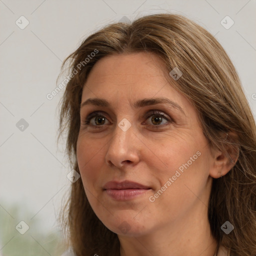
<path id="1" fill-rule="evenodd" d="M 168 70 L 162 60 L 146 52 L 106 56 L 93 66 L 81 102 L 103 98 L 109 107 L 80 109 L 77 162 L 82 183 L 97 217 L 118 235 L 121 256 L 213 256 L 217 244 L 207 219 L 212 177 L 226 174 L 231 165 L 209 147 L 195 108 L 164 72 Z M 132 106 L 139 99 L 155 97 L 174 101 L 184 113 L 167 103 Z M 153 109 L 174 121 L 162 118 L 155 124 L 159 116 L 150 115 Z M 98 122 L 101 113 L 85 125 L 83 120 L 93 111 L 102 111 L 105 120 Z M 146 113 L 149 117 L 144 117 Z M 123 118 L 131 124 L 126 131 L 118 126 Z M 198 151 L 200 156 L 151 202 L 149 197 Z M 132 180 L 151 189 L 116 201 L 102 189 L 111 180 Z"/>

